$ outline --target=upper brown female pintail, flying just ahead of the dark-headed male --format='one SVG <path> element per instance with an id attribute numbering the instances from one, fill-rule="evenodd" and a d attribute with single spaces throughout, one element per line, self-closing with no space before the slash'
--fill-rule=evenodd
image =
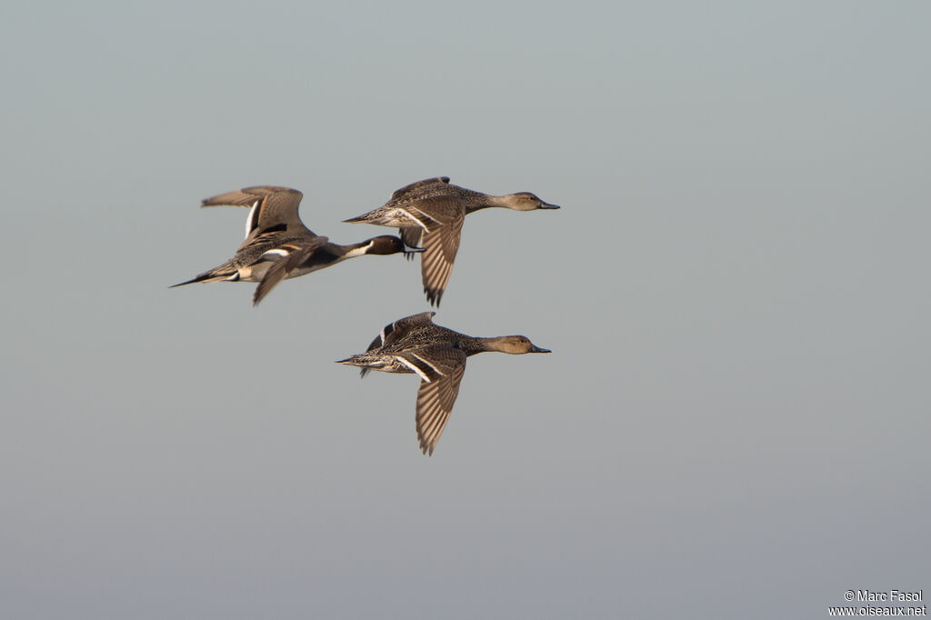
<path id="1" fill-rule="evenodd" d="M 530 192 L 488 195 L 452 185 L 449 177 L 437 177 L 406 185 L 392 194 L 384 206 L 346 222 L 398 226 L 404 243 L 417 249 L 423 246 L 424 292 L 430 303 L 439 306 L 459 249 L 466 215 L 489 207 L 518 211 L 559 209 Z"/>

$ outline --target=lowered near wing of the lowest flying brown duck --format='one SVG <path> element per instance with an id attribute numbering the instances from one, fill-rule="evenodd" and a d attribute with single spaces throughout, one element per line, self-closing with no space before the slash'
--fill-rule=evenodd
<path id="1" fill-rule="evenodd" d="M 466 352 L 435 346 L 415 349 L 404 356 L 411 357 L 412 363 L 429 378 L 422 380 L 417 390 L 416 425 L 421 451 L 432 455 L 459 396 L 459 384 L 466 372 Z"/>

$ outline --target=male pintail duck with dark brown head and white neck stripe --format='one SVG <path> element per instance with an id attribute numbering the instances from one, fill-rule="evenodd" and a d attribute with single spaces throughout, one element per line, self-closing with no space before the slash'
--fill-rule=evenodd
<path id="1" fill-rule="evenodd" d="M 258 304 L 285 278 L 304 276 L 362 254 L 406 253 L 401 239 L 392 235 L 347 246 L 315 235 L 298 216 L 302 196 L 289 187 L 261 185 L 204 200 L 202 207 L 250 207 L 246 240 L 226 263 L 174 286 L 223 280 L 258 282 L 252 296 L 252 303 Z"/>

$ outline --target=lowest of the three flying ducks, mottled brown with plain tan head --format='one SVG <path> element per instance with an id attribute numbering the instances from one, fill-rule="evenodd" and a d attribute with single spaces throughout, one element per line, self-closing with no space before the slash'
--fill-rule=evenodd
<path id="1" fill-rule="evenodd" d="M 360 367 L 363 377 L 370 370 L 417 374 L 421 380 L 417 391 L 417 438 L 421 451 L 431 455 L 459 394 L 466 357 L 483 351 L 549 353 L 526 336 L 477 338 L 448 330 L 434 324 L 435 314 L 398 318 L 385 326 L 365 353 L 338 362 Z"/>

